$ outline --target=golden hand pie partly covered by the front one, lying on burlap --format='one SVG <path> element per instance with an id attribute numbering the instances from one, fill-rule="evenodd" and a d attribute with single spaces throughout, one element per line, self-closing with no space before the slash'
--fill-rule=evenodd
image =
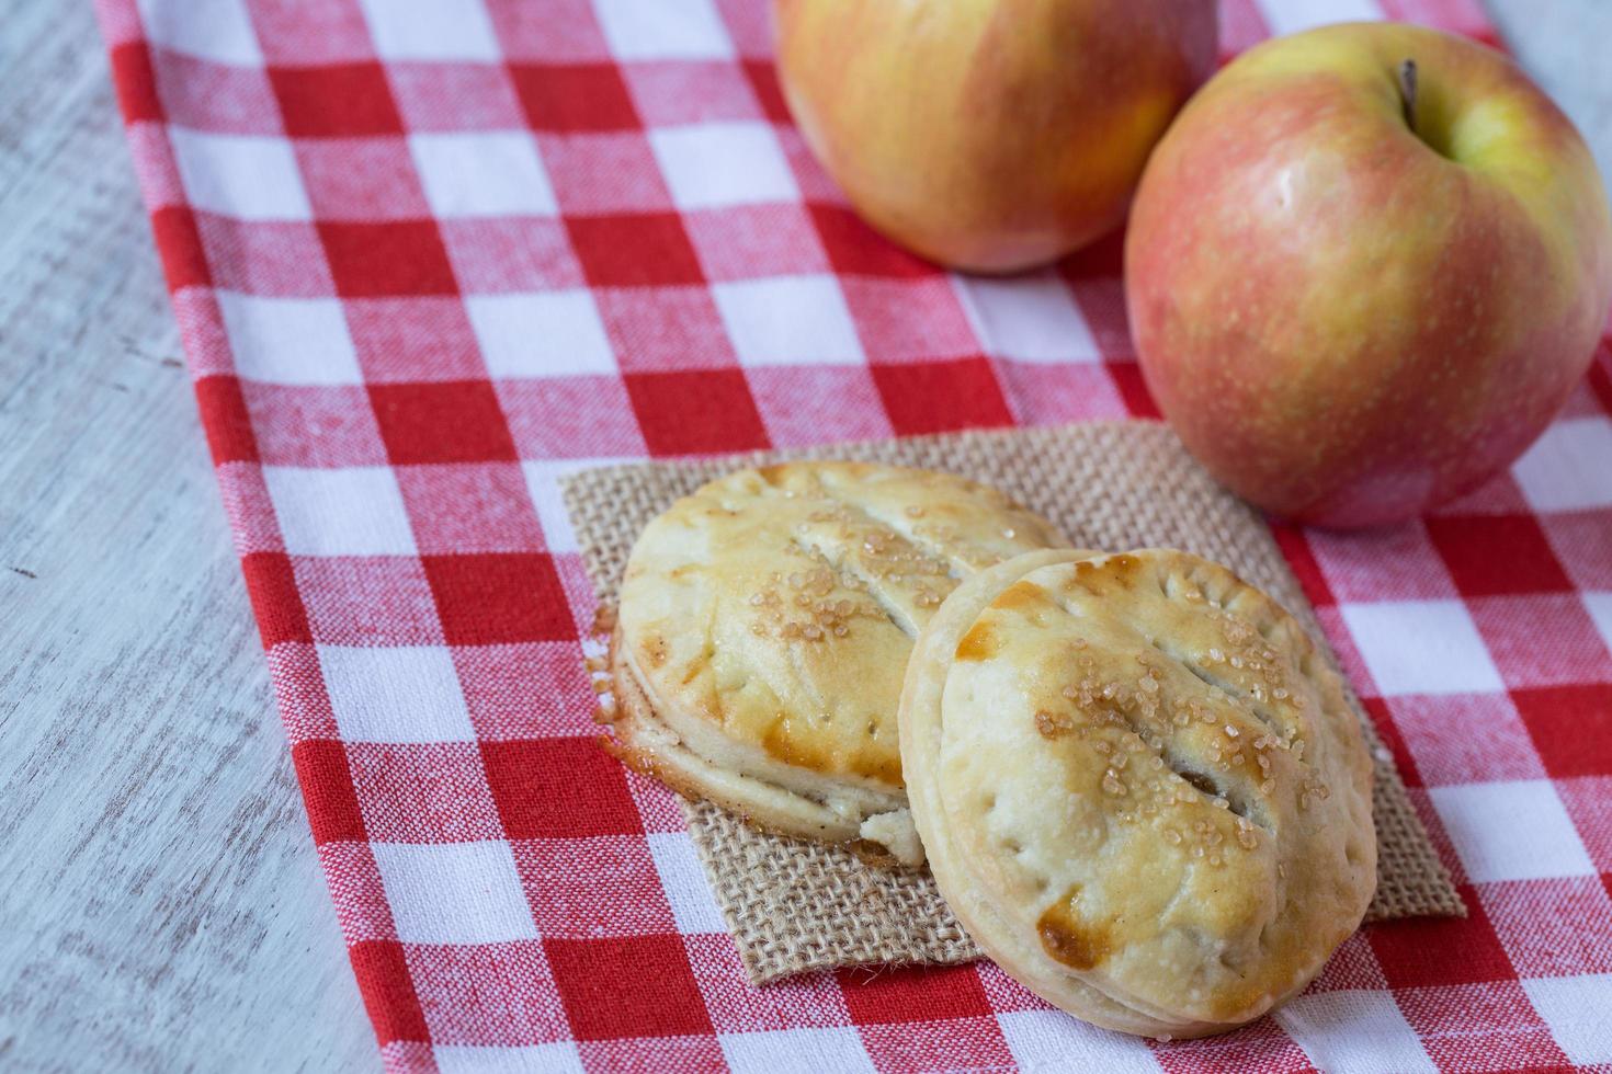
<path id="1" fill-rule="evenodd" d="M 949 473 L 795 462 L 711 481 L 627 562 L 611 749 L 761 828 L 922 861 L 896 744 L 912 638 L 961 578 L 1067 544 Z"/>

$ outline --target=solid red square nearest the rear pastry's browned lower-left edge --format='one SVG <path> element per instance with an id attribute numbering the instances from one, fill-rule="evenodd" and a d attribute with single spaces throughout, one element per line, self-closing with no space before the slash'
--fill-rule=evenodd
<path id="1" fill-rule="evenodd" d="M 625 770 L 596 739 L 482 742 L 482 763 L 509 839 L 643 831 Z"/>

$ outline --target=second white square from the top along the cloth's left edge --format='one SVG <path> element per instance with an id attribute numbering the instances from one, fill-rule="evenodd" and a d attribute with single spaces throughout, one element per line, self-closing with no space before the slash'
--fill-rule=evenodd
<path id="1" fill-rule="evenodd" d="M 240 221 L 308 221 L 308 192 L 285 138 L 168 127 L 190 204 Z"/>

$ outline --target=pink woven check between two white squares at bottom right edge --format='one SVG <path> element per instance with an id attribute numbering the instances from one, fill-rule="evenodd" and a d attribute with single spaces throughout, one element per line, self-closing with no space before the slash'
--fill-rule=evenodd
<path id="1" fill-rule="evenodd" d="M 1394 997 L 1441 1071 L 1572 1071 L 1517 981 L 1412 989 Z"/>

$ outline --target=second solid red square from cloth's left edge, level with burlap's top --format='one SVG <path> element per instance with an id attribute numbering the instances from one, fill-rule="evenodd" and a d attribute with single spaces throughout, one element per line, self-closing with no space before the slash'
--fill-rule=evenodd
<path id="1" fill-rule="evenodd" d="M 369 403 L 397 465 L 514 461 L 498 396 L 485 380 L 369 385 Z"/>

